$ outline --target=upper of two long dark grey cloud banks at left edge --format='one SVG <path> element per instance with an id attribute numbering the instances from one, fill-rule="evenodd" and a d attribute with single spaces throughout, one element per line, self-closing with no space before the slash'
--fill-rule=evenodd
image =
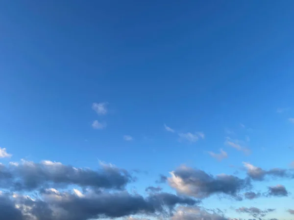
<path id="1" fill-rule="evenodd" d="M 123 189 L 133 181 L 131 175 L 113 165 L 100 164 L 97 171 L 75 168 L 58 162 L 42 161 L 34 163 L 22 161 L 0 168 L 0 187 L 13 190 L 35 190 L 44 187 L 78 185 L 105 189 Z"/>

